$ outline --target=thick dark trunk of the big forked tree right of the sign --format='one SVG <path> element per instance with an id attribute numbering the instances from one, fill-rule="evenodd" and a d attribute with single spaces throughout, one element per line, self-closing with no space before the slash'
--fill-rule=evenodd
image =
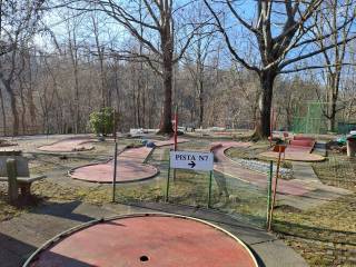
<path id="1" fill-rule="evenodd" d="M 261 93 L 259 96 L 259 121 L 256 125 L 255 138 L 268 138 L 270 135 L 270 109 L 275 79 L 276 71 L 274 70 L 259 73 Z"/>

